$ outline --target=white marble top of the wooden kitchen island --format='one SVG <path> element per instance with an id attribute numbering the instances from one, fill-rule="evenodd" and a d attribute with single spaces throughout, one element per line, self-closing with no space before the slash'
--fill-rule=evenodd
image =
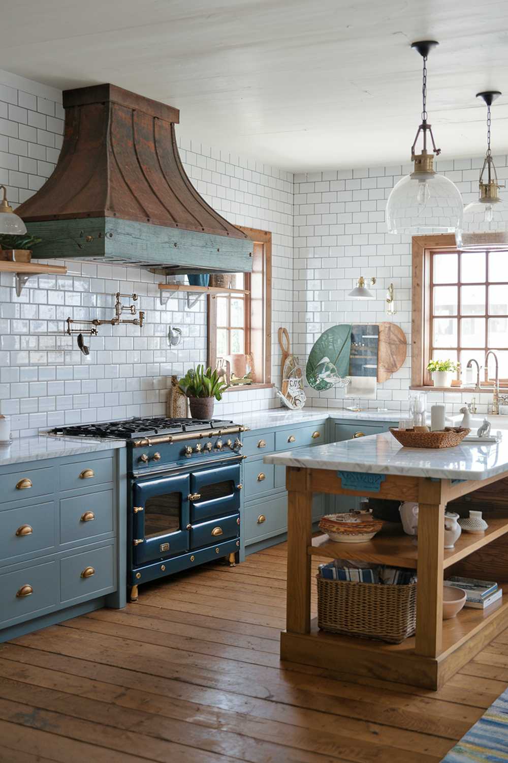
<path id="1" fill-rule="evenodd" d="M 264 457 L 267 464 L 370 474 L 483 480 L 508 472 L 508 433 L 499 443 L 403 448 L 389 432 Z"/>

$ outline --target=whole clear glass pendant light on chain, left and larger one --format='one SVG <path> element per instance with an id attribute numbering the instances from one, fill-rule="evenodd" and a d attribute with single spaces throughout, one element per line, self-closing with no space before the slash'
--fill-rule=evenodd
<path id="1" fill-rule="evenodd" d="M 438 45 L 435 40 L 412 43 L 423 57 L 423 111 L 422 121 L 411 146 L 411 161 L 414 171 L 399 180 L 388 196 L 386 204 L 386 225 L 388 233 L 455 233 L 462 230 L 463 204 L 456 185 L 444 175 L 438 175 L 433 168 L 436 148 L 432 126 L 427 123 L 427 56 Z M 417 140 L 423 137 L 421 153 L 415 153 Z M 427 153 L 427 135 L 433 150 Z"/>

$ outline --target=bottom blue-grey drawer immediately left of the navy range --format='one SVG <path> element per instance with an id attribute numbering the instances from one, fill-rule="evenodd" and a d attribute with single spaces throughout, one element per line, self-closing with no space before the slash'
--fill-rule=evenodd
<path id="1" fill-rule="evenodd" d="M 114 546 L 67 556 L 60 562 L 62 602 L 109 593 L 115 588 Z"/>

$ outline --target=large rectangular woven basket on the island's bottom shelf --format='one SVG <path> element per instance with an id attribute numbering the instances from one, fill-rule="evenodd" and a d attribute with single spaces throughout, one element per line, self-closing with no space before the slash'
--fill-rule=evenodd
<path id="1" fill-rule="evenodd" d="M 417 583 L 380 585 L 317 575 L 318 626 L 331 633 L 400 644 L 417 629 Z"/>

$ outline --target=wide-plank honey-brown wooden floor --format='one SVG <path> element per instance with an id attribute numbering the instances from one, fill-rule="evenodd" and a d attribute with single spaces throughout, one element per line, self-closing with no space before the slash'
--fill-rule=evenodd
<path id="1" fill-rule="evenodd" d="M 285 589 L 283 543 L 0 645 L 0 763 L 433 763 L 506 689 L 508 630 L 439 691 L 280 662 Z"/>

